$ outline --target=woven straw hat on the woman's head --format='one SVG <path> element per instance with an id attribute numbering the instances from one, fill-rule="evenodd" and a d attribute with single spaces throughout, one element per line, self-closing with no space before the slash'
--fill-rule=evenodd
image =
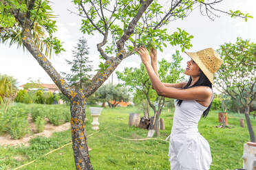
<path id="1" fill-rule="evenodd" d="M 220 69 L 222 65 L 222 59 L 220 55 L 212 48 L 203 49 L 195 53 L 186 52 L 196 64 L 200 67 L 204 75 L 213 84 L 213 74 Z"/>

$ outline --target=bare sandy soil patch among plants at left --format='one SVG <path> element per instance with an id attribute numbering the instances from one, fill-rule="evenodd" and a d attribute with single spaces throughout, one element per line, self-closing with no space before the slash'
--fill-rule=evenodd
<path id="1" fill-rule="evenodd" d="M 45 119 L 45 129 L 41 133 L 36 132 L 36 125 L 32 121 L 32 117 L 30 114 L 28 114 L 28 123 L 30 124 L 30 134 L 26 134 L 21 139 L 12 139 L 10 134 L 3 134 L 0 136 L 0 145 L 1 146 L 17 146 L 17 145 L 30 145 L 30 139 L 34 138 L 36 136 L 44 136 L 44 137 L 50 137 L 54 132 L 62 132 L 65 130 L 70 129 L 70 122 L 64 123 L 63 125 L 52 125 L 52 123 L 49 123 L 49 120 Z"/>

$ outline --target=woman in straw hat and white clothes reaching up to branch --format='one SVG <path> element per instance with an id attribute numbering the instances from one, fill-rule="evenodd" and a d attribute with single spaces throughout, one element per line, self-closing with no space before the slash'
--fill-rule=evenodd
<path id="1" fill-rule="evenodd" d="M 158 95 L 175 99 L 173 127 L 169 143 L 171 170 L 210 169 L 211 151 L 209 143 L 198 132 L 200 117 L 206 117 L 213 101 L 213 74 L 220 68 L 222 60 L 211 48 L 196 53 L 186 53 L 191 57 L 184 74 L 188 82 L 168 84 L 160 82 L 157 71 L 156 49 L 145 47 L 136 50 L 140 54 L 149 74 L 152 88 Z"/>

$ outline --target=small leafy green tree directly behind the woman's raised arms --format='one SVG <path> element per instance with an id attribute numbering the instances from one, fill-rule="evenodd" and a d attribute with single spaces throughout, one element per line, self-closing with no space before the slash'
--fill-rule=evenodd
<path id="1" fill-rule="evenodd" d="M 167 60 L 164 59 L 158 62 L 158 74 L 161 82 L 176 83 L 184 79 L 184 77 L 181 76 L 184 70 L 181 69 L 180 66 L 182 57 L 179 51 L 176 51 L 172 57 L 172 62 L 167 62 Z M 156 91 L 151 88 L 151 82 L 145 66 L 141 63 L 140 68 L 126 67 L 125 71 L 116 71 L 116 74 L 118 75 L 118 79 L 122 80 L 124 85 L 128 86 L 130 90 L 143 93 L 149 106 L 153 109 L 154 117 L 156 117 L 156 121 L 154 122 L 156 123 L 156 136 L 160 136 L 158 120 L 164 106 L 165 97 L 158 96 Z"/>

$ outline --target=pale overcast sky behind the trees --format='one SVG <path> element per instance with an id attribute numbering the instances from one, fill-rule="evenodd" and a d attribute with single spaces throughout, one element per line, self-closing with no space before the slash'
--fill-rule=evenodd
<path id="1" fill-rule="evenodd" d="M 71 14 L 70 11 L 77 12 L 71 1 L 56 0 L 52 1 L 52 10 L 57 15 L 56 25 L 58 31 L 54 36 L 58 37 L 63 43 L 65 52 L 50 59 L 54 68 L 60 73 L 69 73 L 70 66 L 66 64 L 65 59 L 72 60 L 72 50 L 78 42 L 78 39 L 84 36 L 89 45 L 89 60 L 92 60 L 94 70 L 98 69 L 99 53 L 96 49 L 96 44 L 102 40 L 101 36 L 87 36 L 80 31 L 81 18 L 76 14 Z M 168 25 L 169 34 L 177 31 L 177 27 L 184 29 L 194 38 L 191 40 L 193 47 L 187 51 L 199 51 L 208 47 L 218 49 L 224 42 L 235 42 L 237 37 L 250 39 L 256 42 L 256 1 L 255 0 L 224 0 L 220 3 L 219 8 L 222 10 L 241 10 L 244 13 L 249 13 L 254 16 L 253 19 L 231 19 L 227 14 L 219 14 L 220 18 L 211 21 L 207 16 L 202 16 L 198 9 L 193 10 L 191 14 L 184 20 L 173 21 Z M 158 60 L 165 58 L 171 61 L 171 55 L 179 47 L 171 47 L 171 45 L 164 48 L 161 53 L 158 51 Z M 17 79 L 18 86 L 28 82 L 29 78 L 38 80 L 44 84 L 52 84 L 52 80 L 47 73 L 39 66 L 37 61 L 32 57 L 28 51 L 23 51 L 22 48 L 17 49 L 16 45 L 9 47 L 9 45 L 0 44 L 1 60 L 0 60 L 0 74 L 7 74 Z M 182 68 L 186 68 L 186 62 L 189 57 L 186 53 L 182 55 Z M 123 60 L 116 71 L 123 71 L 125 67 L 138 67 L 140 65 L 140 58 L 138 55 L 130 56 Z M 111 80 L 111 76 L 109 82 Z M 116 74 L 114 73 L 114 83 L 118 83 Z"/>

